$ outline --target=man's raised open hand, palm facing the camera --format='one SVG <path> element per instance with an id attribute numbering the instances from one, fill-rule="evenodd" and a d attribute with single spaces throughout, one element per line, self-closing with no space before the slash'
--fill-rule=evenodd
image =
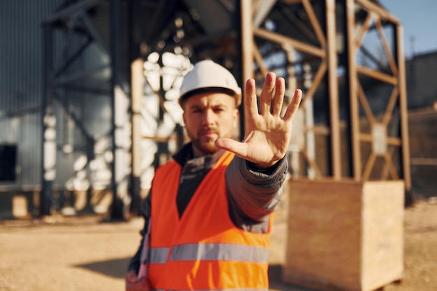
<path id="1" fill-rule="evenodd" d="M 230 138 L 219 138 L 216 146 L 234 152 L 259 168 L 271 167 L 283 158 L 290 143 L 292 119 L 302 99 L 302 91 L 297 89 L 281 117 L 285 91 L 283 78 L 276 79 L 274 73 L 268 73 L 262 87 L 258 112 L 255 80 L 247 80 L 244 94 L 244 140 L 237 142 Z"/>

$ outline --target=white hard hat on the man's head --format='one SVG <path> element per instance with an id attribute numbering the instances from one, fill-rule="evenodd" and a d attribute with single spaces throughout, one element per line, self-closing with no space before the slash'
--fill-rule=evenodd
<path id="1" fill-rule="evenodd" d="M 229 70 L 211 60 L 199 61 L 194 68 L 184 76 L 179 103 L 201 92 L 223 92 L 235 97 L 239 106 L 242 100 L 242 89 Z"/>

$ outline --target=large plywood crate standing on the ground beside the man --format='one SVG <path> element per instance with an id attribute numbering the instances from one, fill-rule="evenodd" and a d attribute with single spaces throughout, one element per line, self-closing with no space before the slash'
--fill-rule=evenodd
<path id="1" fill-rule="evenodd" d="M 289 183 L 284 283 L 367 291 L 401 280 L 403 181 Z"/>

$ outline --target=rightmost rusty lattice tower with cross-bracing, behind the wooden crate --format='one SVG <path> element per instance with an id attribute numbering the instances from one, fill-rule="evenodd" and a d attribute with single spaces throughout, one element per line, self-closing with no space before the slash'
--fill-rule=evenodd
<path id="1" fill-rule="evenodd" d="M 366 10 L 369 14 L 366 17 L 364 25 L 355 36 L 357 32 L 355 30 L 355 8 L 360 7 Z M 373 165 L 378 157 L 383 158 L 387 171 L 390 174 L 391 179 L 403 179 L 405 182 L 406 190 L 411 188 L 410 178 L 410 152 L 409 152 L 409 140 L 408 140 L 408 112 L 406 102 L 406 72 L 405 72 L 405 60 L 402 50 L 402 27 L 399 20 L 396 17 L 385 11 L 375 3 L 371 3 L 369 0 L 346 0 L 347 11 L 347 26 L 348 29 L 347 41 L 348 41 L 348 61 L 349 61 L 349 80 L 350 80 L 350 112 L 351 112 L 351 140 L 353 148 L 353 178 L 357 181 L 367 181 L 371 177 Z M 360 47 L 362 46 L 362 40 L 369 31 L 371 23 L 374 22 L 374 26 L 378 31 L 380 42 L 383 45 L 387 61 L 390 66 L 391 73 L 387 74 L 380 70 L 366 68 L 364 66 L 357 66 L 355 64 L 355 56 Z M 395 45 L 394 50 L 390 48 L 387 43 L 383 31 L 383 22 L 388 22 L 394 26 L 395 33 Z M 353 28 L 353 29 L 351 29 Z M 394 57 L 397 56 L 397 57 Z M 374 116 L 369 106 L 362 85 L 360 84 L 360 75 L 366 75 L 373 79 L 385 82 L 393 85 L 393 90 L 390 95 L 387 107 L 380 121 Z M 400 120 L 401 120 L 401 134 L 400 136 L 387 135 L 387 126 L 392 118 L 395 105 L 399 103 Z M 385 151 L 383 154 L 377 154 L 371 150 L 369 157 L 366 159 L 364 168 L 362 167 L 362 152 L 360 145 L 362 142 L 376 142 L 375 136 L 371 133 L 364 133 L 360 129 L 360 105 L 364 110 L 366 120 L 369 122 L 369 126 L 372 129 L 376 126 L 382 126 L 385 128 L 385 143 L 394 147 L 401 147 L 402 152 L 402 172 L 399 174 L 392 161 L 392 156 L 389 151 Z M 380 177 L 385 179 L 385 177 Z"/>

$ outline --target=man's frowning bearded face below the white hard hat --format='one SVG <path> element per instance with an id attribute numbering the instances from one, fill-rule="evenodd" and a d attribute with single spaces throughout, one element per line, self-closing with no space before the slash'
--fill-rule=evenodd
<path id="1" fill-rule="evenodd" d="M 239 112 L 235 98 L 223 93 L 197 94 L 183 105 L 184 124 L 193 142 L 195 156 L 214 154 L 218 137 L 231 138 L 237 126 Z"/>

